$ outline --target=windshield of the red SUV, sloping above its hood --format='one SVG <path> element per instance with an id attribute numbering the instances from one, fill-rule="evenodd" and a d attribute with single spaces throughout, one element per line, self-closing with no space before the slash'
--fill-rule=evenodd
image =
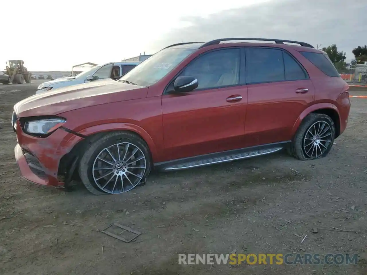
<path id="1" fill-rule="evenodd" d="M 163 49 L 150 56 L 121 77 L 120 81 L 129 81 L 139 86 L 150 86 L 161 80 L 195 49 Z"/>

